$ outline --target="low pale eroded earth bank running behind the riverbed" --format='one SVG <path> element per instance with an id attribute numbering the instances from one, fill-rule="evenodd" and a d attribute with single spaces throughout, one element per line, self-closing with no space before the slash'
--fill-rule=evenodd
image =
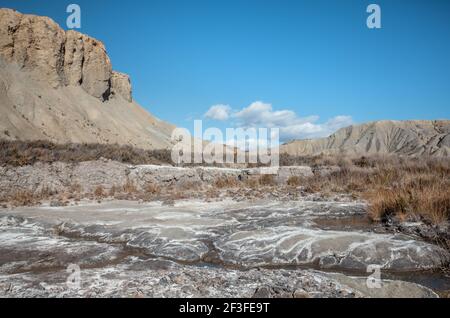
<path id="1" fill-rule="evenodd" d="M 52 164 L 36 163 L 33 166 L 0 167 L 0 192 L 31 191 L 39 194 L 42 191 L 58 193 L 70 191 L 71 186 L 79 184 L 86 192 L 96 187 L 111 189 L 131 182 L 137 190 L 145 189 L 149 184 L 159 187 L 186 186 L 190 184 L 213 185 L 219 179 L 230 178 L 244 181 L 247 178 L 260 177 L 260 170 L 228 169 L 228 168 L 180 168 L 171 166 L 131 166 L 110 160 L 98 160 L 68 164 L 55 162 Z M 311 177 L 310 167 L 281 167 L 274 181 L 285 184 L 289 177 Z"/>

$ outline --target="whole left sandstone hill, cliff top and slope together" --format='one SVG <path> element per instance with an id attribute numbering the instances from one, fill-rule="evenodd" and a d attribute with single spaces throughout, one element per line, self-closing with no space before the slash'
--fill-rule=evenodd
<path id="1" fill-rule="evenodd" d="M 162 149 L 174 128 L 133 100 L 100 41 L 0 9 L 0 139 Z"/>

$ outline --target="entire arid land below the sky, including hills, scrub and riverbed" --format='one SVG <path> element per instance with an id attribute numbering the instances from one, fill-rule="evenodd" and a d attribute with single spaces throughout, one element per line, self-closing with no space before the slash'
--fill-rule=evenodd
<path id="1" fill-rule="evenodd" d="M 179 165 L 100 41 L 0 9 L 0 66 L 0 297 L 448 297 L 449 120 Z"/>

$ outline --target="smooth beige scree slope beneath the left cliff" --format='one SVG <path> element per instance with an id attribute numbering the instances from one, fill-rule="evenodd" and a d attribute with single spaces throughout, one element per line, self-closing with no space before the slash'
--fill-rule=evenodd
<path id="1" fill-rule="evenodd" d="M 54 89 L 1 62 L 0 137 L 167 148 L 174 126 L 121 96 L 102 102 L 81 87 Z"/>

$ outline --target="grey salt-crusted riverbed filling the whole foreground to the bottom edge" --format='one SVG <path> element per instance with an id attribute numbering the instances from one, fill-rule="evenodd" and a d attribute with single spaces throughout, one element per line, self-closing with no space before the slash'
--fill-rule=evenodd
<path id="1" fill-rule="evenodd" d="M 437 245 L 371 224 L 363 202 L 0 209 L 2 297 L 436 297 L 450 289 L 440 270 L 449 259 Z M 80 268 L 75 287 L 71 264 Z M 370 266 L 381 270 L 376 288 Z"/>

